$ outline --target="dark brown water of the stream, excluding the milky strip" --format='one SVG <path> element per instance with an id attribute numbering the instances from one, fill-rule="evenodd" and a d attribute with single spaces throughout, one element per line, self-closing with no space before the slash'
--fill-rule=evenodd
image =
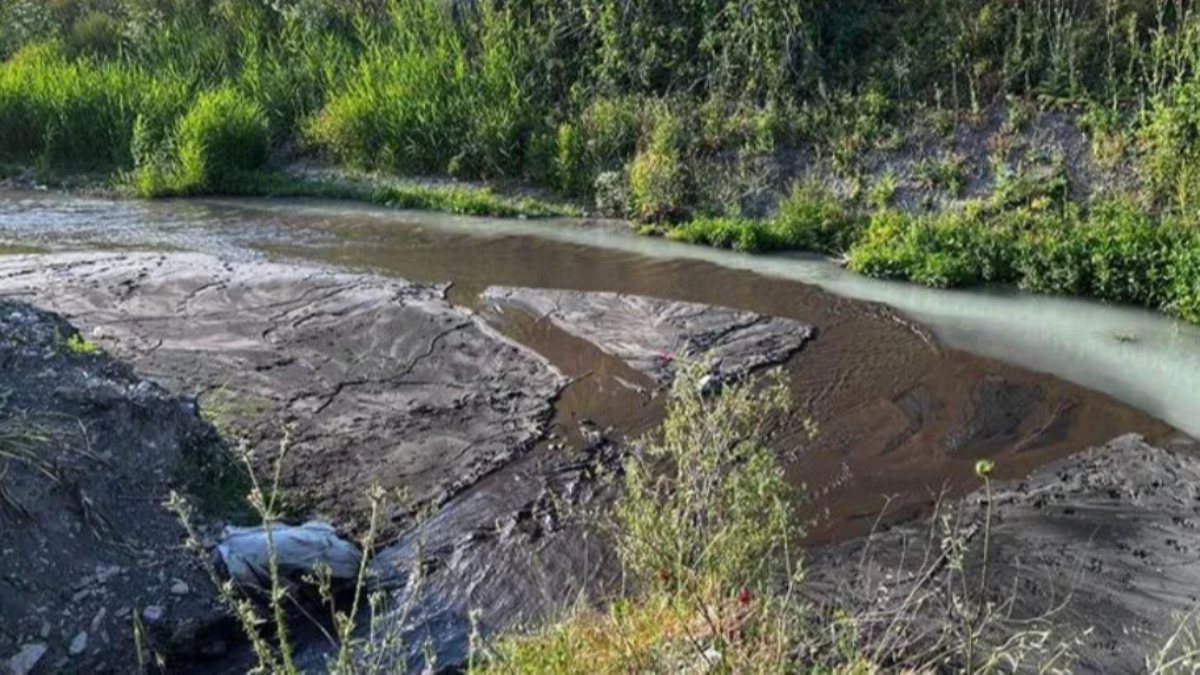
<path id="1" fill-rule="evenodd" d="M 725 305 L 811 323 L 817 339 L 787 364 L 792 419 L 776 444 L 787 472 L 818 498 L 812 538 L 870 527 L 887 506 L 906 518 L 942 494 L 974 489 L 988 456 L 1001 478 L 1127 432 L 1174 430 L 1112 398 L 997 360 L 941 346 L 886 306 L 820 288 L 686 259 L 647 258 L 530 237 L 480 238 L 373 219 L 326 222 L 329 243 L 263 246 L 275 257 L 451 281 L 451 299 L 479 307 L 490 285 L 616 291 Z M 578 418 L 624 435 L 650 430 L 658 401 L 638 374 L 548 322 L 506 330 L 564 372 L 582 377 L 559 404 L 563 436 Z M 804 422 L 816 424 L 809 438 Z"/>

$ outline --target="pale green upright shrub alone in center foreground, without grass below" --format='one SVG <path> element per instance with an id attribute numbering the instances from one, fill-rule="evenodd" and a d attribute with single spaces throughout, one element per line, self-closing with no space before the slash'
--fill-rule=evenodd
<path id="1" fill-rule="evenodd" d="M 686 365 L 671 389 L 661 434 L 625 462 L 614 507 L 618 550 L 635 579 L 716 583 L 766 591 L 798 531 L 791 490 L 766 444 L 773 413 L 790 406 L 781 378 L 704 394 L 704 370 Z"/>

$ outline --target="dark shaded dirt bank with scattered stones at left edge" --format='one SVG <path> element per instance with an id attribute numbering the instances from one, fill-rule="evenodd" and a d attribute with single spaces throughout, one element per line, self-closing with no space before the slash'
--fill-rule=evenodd
<path id="1" fill-rule="evenodd" d="M 211 426 L 61 318 L 8 300 L 0 376 L 0 664 L 130 673 L 136 620 L 168 657 L 220 655 L 211 585 L 161 506 L 221 486 Z"/>

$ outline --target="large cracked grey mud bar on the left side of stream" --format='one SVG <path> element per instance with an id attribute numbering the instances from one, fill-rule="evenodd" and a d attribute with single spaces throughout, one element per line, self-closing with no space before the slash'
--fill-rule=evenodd
<path id="1" fill-rule="evenodd" d="M 83 331 L 103 327 L 113 356 L 198 400 L 222 430 L 260 438 L 264 472 L 294 423 L 283 486 L 330 519 L 366 518 L 372 480 L 403 488 L 407 503 L 389 507 L 380 536 L 532 448 L 568 383 L 445 291 L 200 253 L 0 259 L 0 294 Z"/>

